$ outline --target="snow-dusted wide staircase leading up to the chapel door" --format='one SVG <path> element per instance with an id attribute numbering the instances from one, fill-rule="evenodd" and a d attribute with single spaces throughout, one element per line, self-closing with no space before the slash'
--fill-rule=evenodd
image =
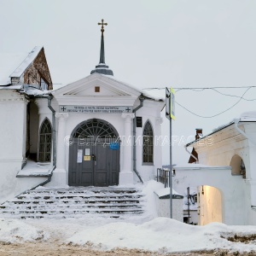
<path id="1" fill-rule="evenodd" d="M 142 214 L 144 198 L 137 189 L 41 187 L 0 205 L 0 217 L 81 218 L 85 214 L 102 214 L 119 218 Z"/>

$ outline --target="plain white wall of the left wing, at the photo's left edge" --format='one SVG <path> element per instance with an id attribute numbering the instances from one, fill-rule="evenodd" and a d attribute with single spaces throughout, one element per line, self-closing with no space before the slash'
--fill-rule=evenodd
<path id="1" fill-rule="evenodd" d="M 1 90 L 0 203 L 46 180 L 45 177 L 16 177 L 26 161 L 26 105 L 25 96 Z"/>

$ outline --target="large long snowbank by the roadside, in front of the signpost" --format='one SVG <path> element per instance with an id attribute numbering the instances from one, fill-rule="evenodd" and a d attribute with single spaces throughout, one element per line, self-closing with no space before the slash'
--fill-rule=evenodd
<path id="1" fill-rule="evenodd" d="M 244 230 L 244 236 L 253 230 Z M 240 230 L 241 233 L 241 230 Z M 113 248 L 139 248 L 158 253 L 193 252 L 227 249 L 239 252 L 256 252 L 256 244 L 231 242 L 224 237 L 235 236 L 236 231 L 225 224 L 206 226 L 183 224 L 170 218 L 154 218 L 144 224 L 110 223 L 81 231 L 67 240 L 77 245 L 99 250 Z"/>

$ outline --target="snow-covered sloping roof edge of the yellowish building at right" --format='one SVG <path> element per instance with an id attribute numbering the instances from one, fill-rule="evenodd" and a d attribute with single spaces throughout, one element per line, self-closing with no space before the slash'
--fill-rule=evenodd
<path id="1" fill-rule="evenodd" d="M 236 119 L 239 119 L 240 122 L 256 122 L 256 111 L 247 111 L 247 112 L 241 113 L 240 117 L 236 118 Z M 201 139 L 204 139 L 205 137 L 211 136 L 212 134 L 214 134 L 218 131 L 221 131 L 224 128 L 226 128 L 230 125 L 234 125 L 234 124 L 235 124 L 235 119 L 232 119 L 230 121 L 230 123 L 228 123 L 226 125 L 220 125 L 217 128 L 213 129 L 211 133 L 209 133 L 209 134 L 207 134 L 203 137 L 200 137 L 199 139 L 197 139 L 197 140 L 195 140 L 191 143 L 186 144 L 186 147 L 189 147 L 190 145 L 193 145 L 195 142 L 198 142 Z"/>

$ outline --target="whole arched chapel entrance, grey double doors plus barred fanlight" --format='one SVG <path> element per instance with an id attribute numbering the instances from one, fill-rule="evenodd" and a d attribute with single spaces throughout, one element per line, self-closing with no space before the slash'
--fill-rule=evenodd
<path id="1" fill-rule="evenodd" d="M 89 119 L 72 133 L 69 148 L 70 186 L 110 186 L 119 180 L 119 135 L 102 119 Z"/>

